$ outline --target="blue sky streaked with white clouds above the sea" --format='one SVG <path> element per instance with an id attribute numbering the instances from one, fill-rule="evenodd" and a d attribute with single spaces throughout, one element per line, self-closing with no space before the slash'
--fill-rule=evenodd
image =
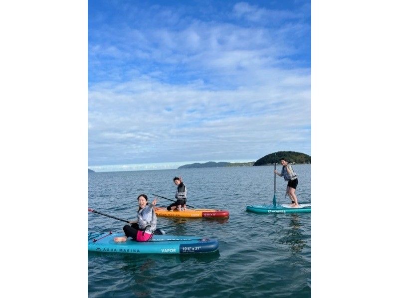
<path id="1" fill-rule="evenodd" d="M 311 155 L 310 1 L 88 1 L 89 168 L 281 150 Z"/>

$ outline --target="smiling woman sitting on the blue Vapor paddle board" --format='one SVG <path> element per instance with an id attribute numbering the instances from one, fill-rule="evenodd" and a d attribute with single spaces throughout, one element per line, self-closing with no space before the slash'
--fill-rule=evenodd
<path id="1" fill-rule="evenodd" d="M 135 241 L 148 241 L 153 236 L 157 229 L 157 215 L 154 211 L 154 206 L 157 204 L 157 199 L 149 204 L 148 197 L 141 194 L 137 197 L 139 203 L 139 210 L 137 211 L 138 222 L 131 221 L 130 225 L 123 227 L 126 236 L 115 237 L 115 242 L 125 242 L 128 237 L 132 237 Z"/>

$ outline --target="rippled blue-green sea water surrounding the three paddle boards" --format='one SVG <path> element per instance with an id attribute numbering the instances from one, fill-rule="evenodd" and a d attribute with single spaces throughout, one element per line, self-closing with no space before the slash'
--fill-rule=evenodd
<path id="1" fill-rule="evenodd" d="M 281 166 L 277 166 L 281 170 Z M 246 205 L 271 204 L 274 165 L 88 175 L 88 207 L 131 220 L 141 193 L 174 198 L 172 179 L 181 175 L 189 205 L 227 209 L 228 219 L 158 217 L 169 234 L 219 240 L 217 253 L 119 255 L 88 253 L 88 297 L 310 297 L 311 213 L 256 214 Z M 294 165 L 297 196 L 311 202 L 311 165 Z M 286 182 L 276 177 L 277 203 Z M 158 205 L 169 205 L 159 199 Z M 122 232 L 124 223 L 88 213 L 88 232 Z"/>

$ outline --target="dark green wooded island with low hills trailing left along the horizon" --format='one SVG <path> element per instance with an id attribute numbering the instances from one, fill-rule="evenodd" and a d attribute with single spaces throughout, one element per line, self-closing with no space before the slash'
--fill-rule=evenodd
<path id="1" fill-rule="evenodd" d="M 178 168 L 201 168 L 201 167 L 227 167 L 227 166 L 258 166 L 280 163 L 280 158 L 286 158 L 289 163 L 311 163 L 312 158 L 308 154 L 295 151 L 277 151 L 267 154 L 256 161 L 248 162 L 214 162 L 208 161 L 205 163 L 192 163 L 179 166 Z"/>

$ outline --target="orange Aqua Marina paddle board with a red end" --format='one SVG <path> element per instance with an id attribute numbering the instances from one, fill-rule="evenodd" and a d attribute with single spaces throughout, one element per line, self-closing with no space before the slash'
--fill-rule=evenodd
<path id="1" fill-rule="evenodd" d="M 227 218 L 229 213 L 227 210 L 215 210 L 215 209 L 187 209 L 179 211 L 174 209 L 169 211 L 165 207 L 155 208 L 155 214 L 161 217 L 191 217 L 191 218 Z"/>

